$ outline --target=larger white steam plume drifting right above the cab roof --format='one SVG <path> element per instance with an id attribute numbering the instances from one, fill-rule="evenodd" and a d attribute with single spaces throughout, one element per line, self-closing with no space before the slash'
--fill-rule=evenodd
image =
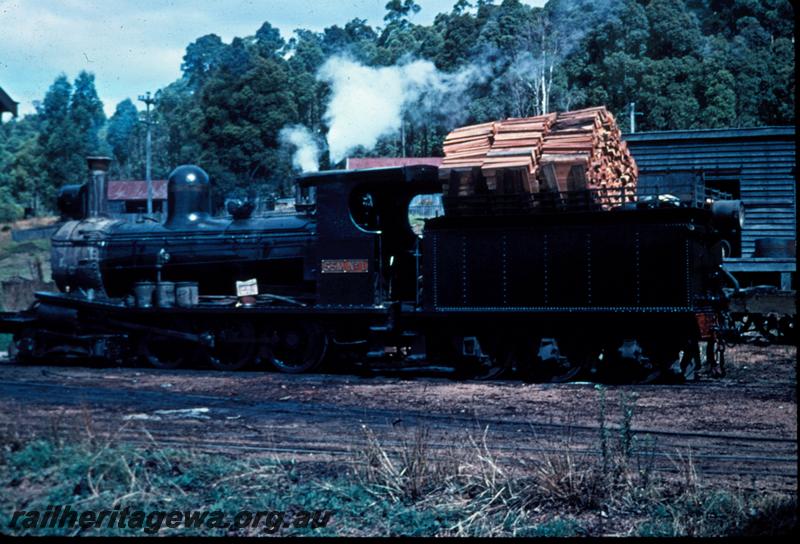
<path id="1" fill-rule="evenodd" d="M 324 115 L 331 164 L 358 147 L 371 149 L 382 136 L 396 134 L 404 116 L 418 122 L 433 113 L 463 116 L 463 108 L 458 108 L 461 94 L 480 77 L 475 67 L 447 74 L 425 60 L 369 67 L 348 57 L 331 57 L 317 73 L 317 79 L 331 87 Z"/>

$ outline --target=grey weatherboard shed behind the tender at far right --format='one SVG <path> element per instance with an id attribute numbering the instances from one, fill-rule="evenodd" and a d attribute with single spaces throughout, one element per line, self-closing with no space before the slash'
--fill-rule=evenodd
<path id="1" fill-rule="evenodd" d="M 707 183 L 745 205 L 741 257 L 728 268 L 741 272 L 794 272 L 795 258 L 753 255 L 760 238 L 795 240 L 795 127 L 680 130 L 627 134 L 640 173 L 703 172 Z"/>

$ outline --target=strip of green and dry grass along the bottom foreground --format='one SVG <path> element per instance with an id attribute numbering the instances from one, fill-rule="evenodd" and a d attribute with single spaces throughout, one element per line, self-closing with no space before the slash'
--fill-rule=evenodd
<path id="1" fill-rule="evenodd" d="M 517 466 L 495 455 L 488 429 L 442 449 L 424 427 L 391 446 L 362 427 L 349 475 L 328 471 L 310 479 L 297 475 L 295 463 L 277 458 L 175 450 L 145 427 L 127 428 L 143 440 L 126 444 L 119 435 L 123 428 L 99 431 L 88 408 L 56 411 L 33 440 L 4 425 L 0 479 L 10 483 L 0 512 L 20 501 L 229 512 L 299 506 L 334 510 L 329 532 L 319 534 L 347 536 L 725 536 L 795 530 L 796 496 L 705 481 L 691 452 L 673 457 L 677 476 L 654 472 L 647 444 L 630 433 L 636 399 L 621 399 L 620 421 L 611 428 L 604 392 L 598 396 L 604 423 L 594 454 L 567 433 L 555 448 L 548 444 Z M 4 419 L 13 421 L 13 414 Z"/>

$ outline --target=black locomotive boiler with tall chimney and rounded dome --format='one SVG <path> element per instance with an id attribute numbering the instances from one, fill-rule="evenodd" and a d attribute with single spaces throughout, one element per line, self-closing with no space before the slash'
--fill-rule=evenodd
<path id="1" fill-rule="evenodd" d="M 107 164 L 92 159 L 90 167 L 88 217 L 66 222 L 52 238 L 53 280 L 61 291 L 126 297 L 137 282 L 157 280 L 157 272 L 160 281 L 197 282 L 207 295 L 224 295 L 232 279 L 250 278 L 270 290 L 312 290 L 310 217 L 254 218 L 251 209 L 232 206 L 231 218 L 213 218 L 208 175 L 187 165 L 170 176 L 163 224 L 111 219 L 102 196 L 92 197 L 103 194 Z"/>

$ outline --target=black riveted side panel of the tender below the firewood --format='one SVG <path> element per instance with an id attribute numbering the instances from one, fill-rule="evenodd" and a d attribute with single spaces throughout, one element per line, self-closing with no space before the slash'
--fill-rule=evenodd
<path id="1" fill-rule="evenodd" d="M 691 311 L 704 246 L 686 224 L 442 229 L 426 234 L 439 311 Z"/>

